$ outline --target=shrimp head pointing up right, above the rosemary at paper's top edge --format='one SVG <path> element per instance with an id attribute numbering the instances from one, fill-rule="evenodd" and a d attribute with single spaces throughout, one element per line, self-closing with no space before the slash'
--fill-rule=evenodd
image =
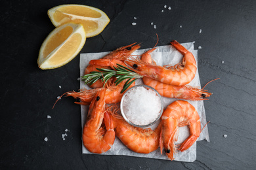
<path id="1" fill-rule="evenodd" d="M 136 45 L 135 44 L 136 42 L 127 46 L 122 46 L 120 48 L 117 48 L 116 50 L 110 52 L 110 54 L 107 54 L 106 56 L 104 56 L 102 59 L 125 60 L 129 56 L 131 56 L 131 54 L 135 52 L 135 50 L 138 50 L 140 48 L 139 44 L 136 44 Z"/>

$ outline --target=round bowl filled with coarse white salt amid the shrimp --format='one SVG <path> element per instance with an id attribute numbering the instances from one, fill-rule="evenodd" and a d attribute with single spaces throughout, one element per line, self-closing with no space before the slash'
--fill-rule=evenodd
<path id="1" fill-rule="evenodd" d="M 163 113 L 163 101 L 154 88 L 141 84 L 123 94 L 120 103 L 123 118 L 132 126 L 148 127 Z"/>

